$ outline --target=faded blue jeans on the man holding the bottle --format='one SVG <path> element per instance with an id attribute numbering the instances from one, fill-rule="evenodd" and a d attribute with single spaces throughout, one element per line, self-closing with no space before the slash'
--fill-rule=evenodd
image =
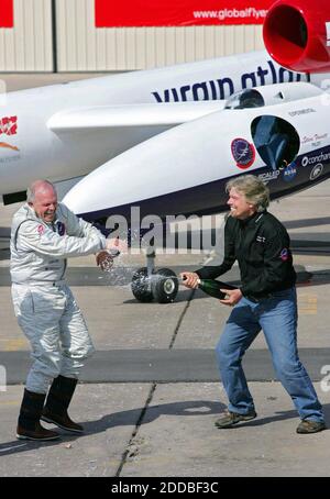
<path id="1" fill-rule="evenodd" d="M 233 308 L 217 345 L 217 359 L 231 412 L 254 411 L 242 357 L 263 330 L 277 378 L 301 420 L 323 421 L 322 407 L 297 351 L 296 289 L 273 293 L 257 303 L 242 298 Z"/>

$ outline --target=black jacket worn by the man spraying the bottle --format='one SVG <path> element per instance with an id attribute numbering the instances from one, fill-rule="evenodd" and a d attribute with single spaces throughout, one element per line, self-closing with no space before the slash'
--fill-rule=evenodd
<path id="1" fill-rule="evenodd" d="M 242 293 L 263 298 L 296 282 L 289 244 L 286 229 L 267 211 L 254 213 L 246 220 L 229 217 L 224 226 L 222 264 L 202 267 L 197 274 L 201 279 L 215 279 L 227 273 L 238 259 Z"/>

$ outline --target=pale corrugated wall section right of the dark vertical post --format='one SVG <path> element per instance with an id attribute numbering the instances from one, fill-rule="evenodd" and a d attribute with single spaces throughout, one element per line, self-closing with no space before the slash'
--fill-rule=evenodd
<path id="1" fill-rule="evenodd" d="M 262 26 L 96 29 L 95 0 L 57 0 L 58 70 L 130 70 L 263 47 Z"/>

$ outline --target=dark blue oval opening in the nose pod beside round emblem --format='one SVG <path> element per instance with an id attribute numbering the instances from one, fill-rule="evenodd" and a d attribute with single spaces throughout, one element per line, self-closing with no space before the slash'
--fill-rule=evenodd
<path id="1" fill-rule="evenodd" d="M 251 134 L 261 158 L 274 170 L 285 168 L 298 154 L 299 135 L 282 118 L 268 114 L 255 118 L 251 123 Z"/>

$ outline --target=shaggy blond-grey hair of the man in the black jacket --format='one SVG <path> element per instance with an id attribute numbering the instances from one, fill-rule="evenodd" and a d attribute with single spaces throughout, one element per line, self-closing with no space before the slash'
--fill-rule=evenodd
<path id="1" fill-rule="evenodd" d="M 248 202 L 256 207 L 256 211 L 265 211 L 270 206 L 270 189 L 254 175 L 242 175 L 229 180 L 226 185 L 226 192 L 235 189 L 245 196 Z"/>

